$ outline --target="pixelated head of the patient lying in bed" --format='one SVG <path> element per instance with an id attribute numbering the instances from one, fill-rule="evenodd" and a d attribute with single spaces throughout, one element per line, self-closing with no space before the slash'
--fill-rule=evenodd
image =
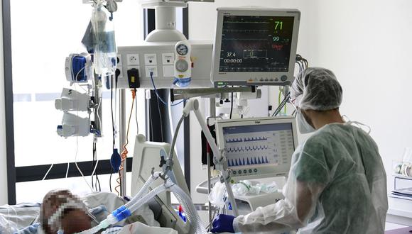
<path id="1" fill-rule="evenodd" d="M 91 218 L 82 200 L 69 190 L 55 189 L 45 194 L 40 210 L 45 233 L 77 233 L 91 228 Z"/>

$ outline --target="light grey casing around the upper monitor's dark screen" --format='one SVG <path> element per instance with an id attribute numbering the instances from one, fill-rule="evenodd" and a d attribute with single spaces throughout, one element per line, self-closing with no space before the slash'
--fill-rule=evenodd
<path id="1" fill-rule="evenodd" d="M 224 16 L 290 16 L 294 18 L 291 52 L 289 54 L 288 72 L 219 72 L 220 54 L 222 47 L 222 28 Z M 218 8 L 215 32 L 215 47 L 212 61 L 212 83 L 215 87 L 224 85 L 290 85 L 296 62 L 296 49 L 300 24 L 300 11 L 297 9 L 246 9 Z M 281 77 L 286 75 L 287 79 Z M 277 80 L 276 80 L 277 79 Z"/>

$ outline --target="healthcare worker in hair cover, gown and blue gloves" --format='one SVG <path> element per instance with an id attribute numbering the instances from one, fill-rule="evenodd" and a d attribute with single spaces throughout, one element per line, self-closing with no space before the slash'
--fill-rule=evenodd
<path id="1" fill-rule="evenodd" d="M 219 215 L 212 232 L 384 233 L 388 201 L 378 147 L 359 123 L 343 121 L 342 87 L 330 70 L 310 67 L 291 87 L 301 133 L 285 199 L 246 216 Z M 354 126 L 357 125 L 357 126 Z"/>

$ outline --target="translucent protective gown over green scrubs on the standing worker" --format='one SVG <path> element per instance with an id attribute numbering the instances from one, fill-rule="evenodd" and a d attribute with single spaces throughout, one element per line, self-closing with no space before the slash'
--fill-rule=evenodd
<path id="1" fill-rule="evenodd" d="M 234 219 L 242 233 L 384 233 L 386 173 L 374 140 L 349 123 L 323 126 L 293 154 L 285 199 Z"/>

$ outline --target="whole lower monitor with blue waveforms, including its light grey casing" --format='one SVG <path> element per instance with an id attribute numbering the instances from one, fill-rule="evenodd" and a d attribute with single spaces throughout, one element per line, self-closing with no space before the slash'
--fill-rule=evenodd
<path id="1" fill-rule="evenodd" d="M 216 137 L 232 177 L 287 177 L 298 146 L 295 118 L 219 120 Z"/>

